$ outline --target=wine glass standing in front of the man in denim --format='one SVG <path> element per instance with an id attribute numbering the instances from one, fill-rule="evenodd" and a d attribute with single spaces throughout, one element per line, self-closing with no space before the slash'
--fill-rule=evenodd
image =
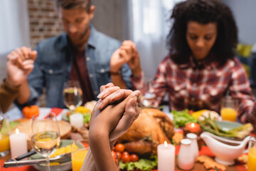
<path id="1" fill-rule="evenodd" d="M 75 110 L 82 104 L 82 89 L 78 81 L 68 81 L 63 90 L 64 104 L 70 110 Z"/>

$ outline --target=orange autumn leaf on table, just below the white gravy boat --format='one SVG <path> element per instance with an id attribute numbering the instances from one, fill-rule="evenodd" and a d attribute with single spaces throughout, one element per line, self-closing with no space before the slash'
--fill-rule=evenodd
<path id="1" fill-rule="evenodd" d="M 196 158 L 196 161 L 203 162 L 203 165 L 206 167 L 207 170 L 210 169 L 218 169 L 219 171 L 225 171 L 225 165 L 221 165 L 218 162 L 215 162 L 211 157 L 206 155 L 200 155 Z"/>

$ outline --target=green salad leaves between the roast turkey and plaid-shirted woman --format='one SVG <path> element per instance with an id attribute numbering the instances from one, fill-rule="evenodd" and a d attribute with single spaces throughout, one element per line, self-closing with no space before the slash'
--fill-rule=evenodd
<path id="1" fill-rule="evenodd" d="M 197 123 L 196 118 L 188 114 L 188 109 L 181 111 L 171 110 L 171 113 L 174 115 L 175 128 L 182 128 L 187 123 Z"/>

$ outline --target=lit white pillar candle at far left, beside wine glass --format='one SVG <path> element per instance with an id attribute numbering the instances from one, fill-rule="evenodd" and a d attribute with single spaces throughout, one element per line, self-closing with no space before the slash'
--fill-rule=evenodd
<path id="1" fill-rule="evenodd" d="M 18 157 L 28 152 L 26 133 L 16 133 L 10 135 L 11 158 Z"/>

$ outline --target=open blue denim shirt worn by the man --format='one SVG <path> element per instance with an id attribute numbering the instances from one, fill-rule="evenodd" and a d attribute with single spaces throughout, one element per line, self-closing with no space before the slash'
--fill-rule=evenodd
<path id="1" fill-rule="evenodd" d="M 95 100 L 100 93 L 100 86 L 110 83 L 110 58 L 121 43 L 110 38 L 93 26 L 90 26 L 90 37 L 85 46 L 85 60 L 90 77 Z M 69 80 L 73 63 L 73 51 L 68 41 L 68 35 L 62 33 L 59 36 L 48 38 L 36 46 L 37 58 L 34 68 L 28 76 L 28 84 L 31 90 L 30 98 L 24 105 L 35 104 L 39 96 L 46 88 L 46 107 L 65 108 L 63 103 L 63 86 Z M 122 77 L 127 88 L 131 89 L 130 76 L 132 71 L 125 64 L 122 66 Z"/>

